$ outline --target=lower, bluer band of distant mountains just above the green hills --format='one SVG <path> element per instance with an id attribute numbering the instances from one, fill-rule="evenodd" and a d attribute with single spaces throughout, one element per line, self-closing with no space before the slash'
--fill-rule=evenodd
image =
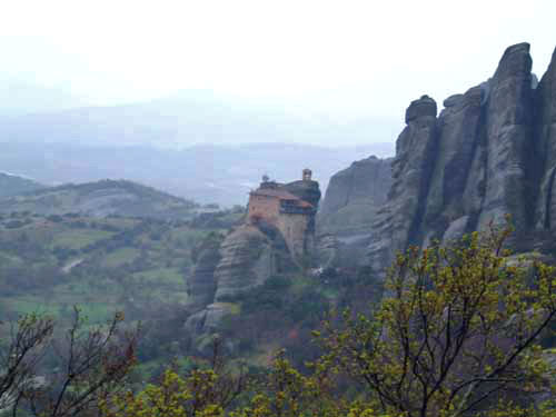
<path id="1" fill-rule="evenodd" d="M 259 143 L 197 146 L 182 150 L 152 147 L 90 147 L 78 143 L 0 142 L 0 169 L 46 185 L 125 178 L 201 203 L 245 205 L 247 193 L 268 173 L 299 179 L 308 167 L 326 188 L 329 177 L 353 160 L 394 153 L 393 145 L 326 148 Z"/>

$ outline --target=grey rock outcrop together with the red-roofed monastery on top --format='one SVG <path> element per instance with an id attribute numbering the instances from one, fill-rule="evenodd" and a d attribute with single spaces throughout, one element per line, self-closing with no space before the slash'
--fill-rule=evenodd
<path id="1" fill-rule="evenodd" d="M 246 222 L 224 240 L 206 239 L 188 282 L 186 330 L 197 337 L 198 348 L 226 316 L 239 311 L 237 300 L 244 294 L 301 266 L 314 245 L 319 199 L 318 182 L 310 173 L 286 185 L 266 179 L 251 192 Z"/>

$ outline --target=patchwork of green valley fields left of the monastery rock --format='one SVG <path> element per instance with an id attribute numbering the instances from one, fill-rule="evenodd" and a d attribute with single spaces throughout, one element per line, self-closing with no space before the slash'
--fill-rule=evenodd
<path id="1" fill-rule="evenodd" d="M 91 322 L 119 310 L 145 320 L 152 311 L 183 306 L 191 250 L 211 231 L 149 219 L 13 218 L 24 226 L 0 227 L 6 317 L 38 311 L 64 320 L 77 305 Z"/>

